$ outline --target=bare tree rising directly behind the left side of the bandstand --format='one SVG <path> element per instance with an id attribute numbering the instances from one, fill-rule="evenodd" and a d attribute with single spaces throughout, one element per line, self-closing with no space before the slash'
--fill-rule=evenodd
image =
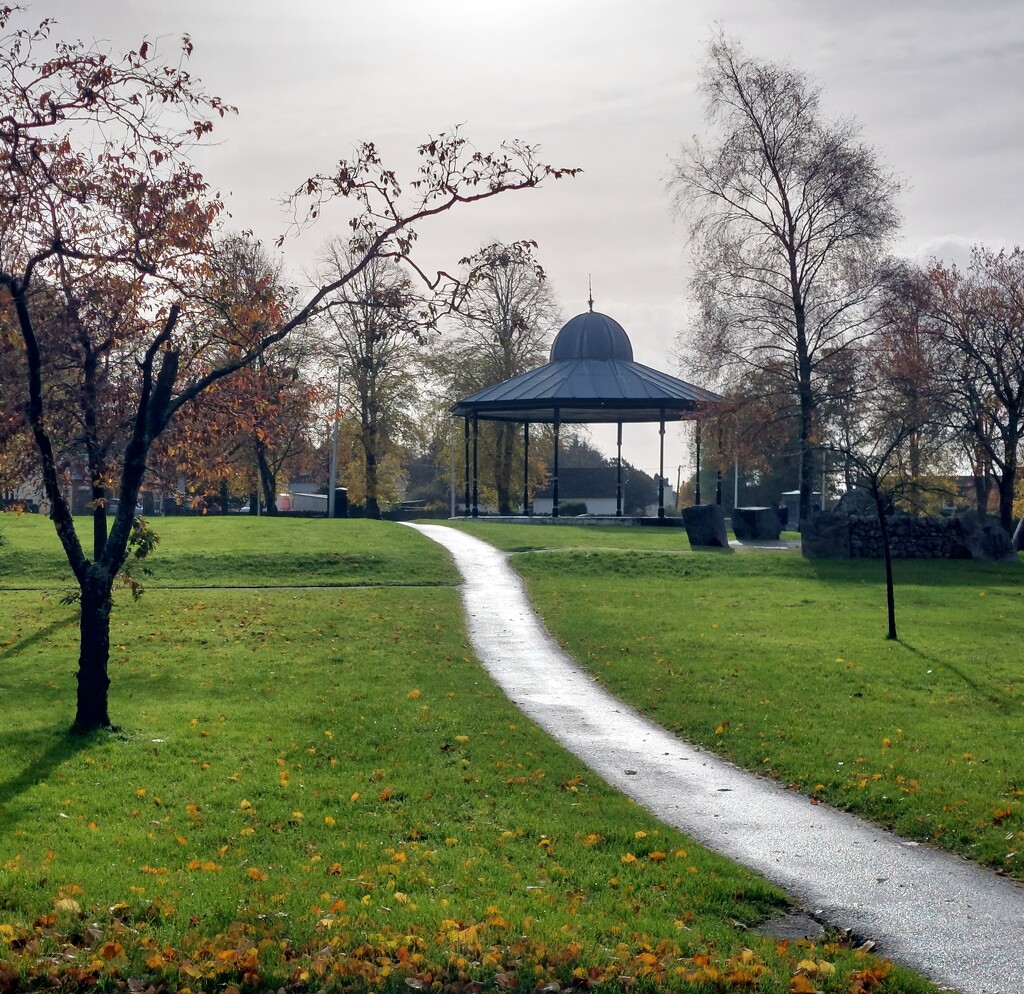
<path id="1" fill-rule="evenodd" d="M 458 332 L 439 353 L 451 399 L 510 380 L 547 357 L 559 307 L 536 249 L 532 242 L 495 243 L 463 259 L 469 276 Z M 514 424 L 490 422 L 481 436 L 484 476 L 494 483 L 499 513 L 511 514 L 520 432 Z"/>

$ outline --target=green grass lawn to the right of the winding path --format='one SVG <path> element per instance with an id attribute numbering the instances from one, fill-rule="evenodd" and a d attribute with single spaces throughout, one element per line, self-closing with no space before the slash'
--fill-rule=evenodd
<path id="1" fill-rule="evenodd" d="M 1024 879 L 1024 569 L 662 550 L 475 524 L 612 693 L 805 793 Z M 523 550 L 534 549 L 534 554 Z M 543 553 L 541 552 L 543 550 Z"/>

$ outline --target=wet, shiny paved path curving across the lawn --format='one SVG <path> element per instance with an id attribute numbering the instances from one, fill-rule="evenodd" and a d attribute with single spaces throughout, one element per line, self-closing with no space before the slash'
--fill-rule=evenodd
<path id="1" fill-rule="evenodd" d="M 876 951 L 970 994 L 1024 994 L 1024 888 L 739 770 L 603 690 L 547 634 L 503 553 L 412 525 L 464 578 L 473 647 L 508 697 L 609 783 Z"/>

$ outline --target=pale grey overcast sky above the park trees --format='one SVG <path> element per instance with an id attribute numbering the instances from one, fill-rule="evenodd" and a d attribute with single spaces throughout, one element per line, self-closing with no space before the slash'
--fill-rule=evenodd
<path id="1" fill-rule="evenodd" d="M 669 350 L 686 321 L 685 236 L 666 186 L 703 130 L 696 86 L 719 28 L 816 77 L 826 112 L 859 122 L 906 183 L 899 251 L 952 260 L 1024 242 L 1019 0 L 52 0 L 32 12 L 119 50 L 144 36 L 170 53 L 187 32 L 193 72 L 240 112 L 203 168 L 234 226 L 267 241 L 286 226 L 281 196 L 362 140 L 407 176 L 417 143 L 455 125 L 480 148 L 521 138 L 581 167 L 424 226 L 424 259 L 454 266 L 486 242 L 535 239 L 566 319 L 592 278 L 636 358 L 684 378 Z M 325 216 L 286 263 L 301 271 L 337 229 Z M 626 445 L 657 469 L 656 426 L 631 427 Z M 667 475 L 690 460 L 673 428 Z"/>

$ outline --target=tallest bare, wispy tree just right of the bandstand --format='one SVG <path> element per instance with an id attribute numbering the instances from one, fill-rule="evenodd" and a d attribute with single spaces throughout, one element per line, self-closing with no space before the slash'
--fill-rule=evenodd
<path id="1" fill-rule="evenodd" d="M 877 264 L 899 225 L 900 183 L 856 124 L 824 117 L 821 87 L 790 66 L 719 36 L 702 90 L 717 136 L 711 145 L 694 137 L 673 178 L 699 305 L 686 352 L 698 371 L 740 389 L 752 371 L 783 373 L 800 424 L 805 517 L 818 374 L 866 334 Z"/>

